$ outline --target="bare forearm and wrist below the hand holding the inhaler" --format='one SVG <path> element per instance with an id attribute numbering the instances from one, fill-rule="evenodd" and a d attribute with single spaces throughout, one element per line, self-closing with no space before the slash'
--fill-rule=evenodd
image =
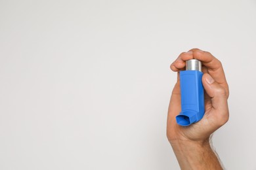
<path id="1" fill-rule="evenodd" d="M 223 169 L 209 141 L 172 141 L 171 146 L 182 170 L 186 169 Z"/>

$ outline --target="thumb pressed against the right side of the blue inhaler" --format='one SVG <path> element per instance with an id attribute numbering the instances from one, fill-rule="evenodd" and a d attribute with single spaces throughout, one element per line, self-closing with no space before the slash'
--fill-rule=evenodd
<path id="1" fill-rule="evenodd" d="M 226 90 L 208 73 L 203 75 L 202 82 L 205 92 L 211 97 L 212 109 L 215 110 L 217 120 L 224 124 L 228 121 L 228 97 Z"/>

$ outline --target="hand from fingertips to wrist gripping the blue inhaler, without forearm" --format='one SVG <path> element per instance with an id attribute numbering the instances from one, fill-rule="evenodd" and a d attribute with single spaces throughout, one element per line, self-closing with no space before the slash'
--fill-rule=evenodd
<path id="1" fill-rule="evenodd" d="M 181 112 L 181 90 L 179 71 L 184 70 L 188 59 L 202 61 L 203 88 L 205 89 L 205 114 L 199 122 L 188 127 L 179 126 L 175 117 Z M 173 88 L 167 118 L 167 137 L 169 141 L 189 140 L 205 141 L 211 133 L 228 121 L 228 84 L 221 62 L 209 52 L 192 49 L 183 52 L 171 64 L 171 69 L 178 72 L 177 83 Z"/>

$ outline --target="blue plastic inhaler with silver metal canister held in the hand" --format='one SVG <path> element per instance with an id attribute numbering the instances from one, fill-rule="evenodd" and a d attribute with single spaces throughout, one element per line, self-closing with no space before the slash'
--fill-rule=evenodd
<path id="1" fill-rule="evenodd" d="M 186 61 L 186 71 L 180 72 L 181 113 L 176 116 L 177 124 L 181 126 L 189 126 L 203 118 L 205 109 L 202 76 L 201 61 Z"/>

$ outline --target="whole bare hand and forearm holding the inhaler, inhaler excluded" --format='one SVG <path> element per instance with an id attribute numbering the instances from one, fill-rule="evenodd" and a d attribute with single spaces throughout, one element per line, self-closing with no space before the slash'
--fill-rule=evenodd
<path id="1" fill-rule="evenodd" d="M 199 122 L 184 127 L 177 124 L 175 117 L 181 112 L 179 71 L 184 70 L 188 59 L 202 61 L 205 114 Z M 171 64 L 171 70 L 177 72 L 177 83 L 169 103 L 167 138 L 181 169 L 223 169 L 210 144 L 211 134 L 223 126 L 229 117 L 228 84 L 221 61 L 209 52 L 193 48 L 182 52 Z"/>

